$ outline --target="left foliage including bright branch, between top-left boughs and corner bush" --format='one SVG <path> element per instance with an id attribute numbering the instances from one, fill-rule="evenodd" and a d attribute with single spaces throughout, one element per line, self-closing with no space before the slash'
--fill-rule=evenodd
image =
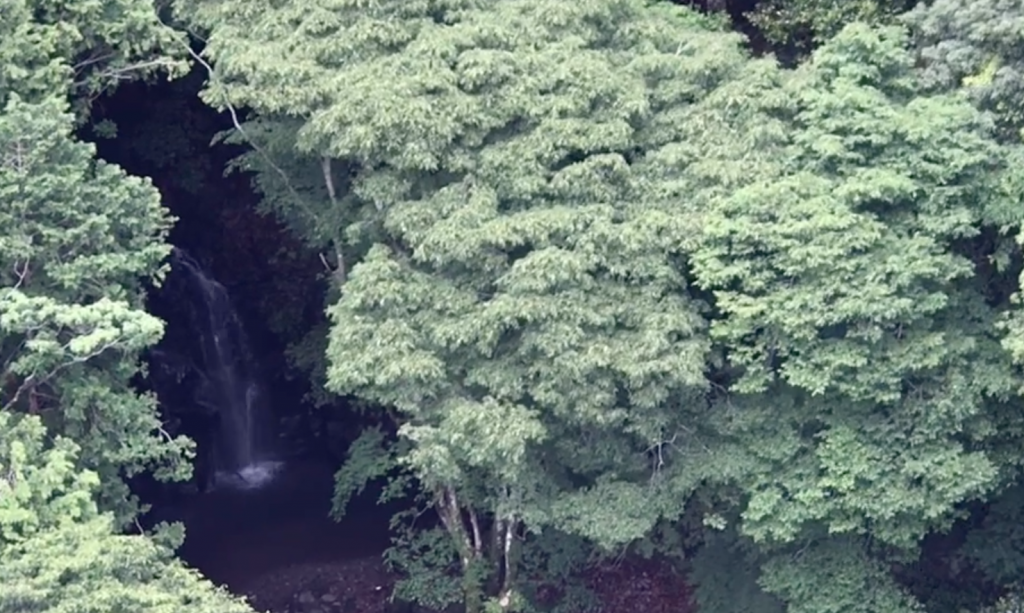
<path id="1" fill-rule="evenodd" d="M 104 505 L 127 519 L 122 471 L 188 474 L 190 443 L 163 433 L 155 400 L 128 385 L 138 352 L 163 334 L 139 279 L 158 273 L 170 220 L 147 181 L 72 140 L 65 106 L 12 95 L 0 114 L 3 408 L 76 440 L 103 478 Z"/>

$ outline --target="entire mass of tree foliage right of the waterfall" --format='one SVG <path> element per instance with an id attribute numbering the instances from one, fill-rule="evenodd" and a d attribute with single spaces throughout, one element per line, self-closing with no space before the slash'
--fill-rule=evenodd
<path id="1" fill-rule="evenodd" d="M 402 597 L 476 613 L 530 539 L 698 493 L 750 566 L 709 608 L 918 611 L 889 565 L 1017 477 L 1020 151 L 902 29 L 839 29 L 895 4 L 787 6 L 838 32 L 794 71 L 633 0 L 179 1 L 238 164 L 332 252 L 329 389 L 402 424 L 337 507 L 397 467 L 441 522 Z"/>

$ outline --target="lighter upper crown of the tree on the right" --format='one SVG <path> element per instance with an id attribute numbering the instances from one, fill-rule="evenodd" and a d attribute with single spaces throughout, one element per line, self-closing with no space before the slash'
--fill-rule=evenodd
<path id="1" fill-rule="evenodd" d="M 716 334 L 762 338 L 757 354 L 742 354 L 752 386 L 765 385 L 765 365 L 779 360 L 783 377 L 812 393 L 839 386 L 857 400 L 867 392 L 893 401 L 908 371 L 936 363 L 928 354 L 941 333 L 914 322 L 948 306 L 934 288 L 970 273 L 945 245 L 984 219 L 981 178 L 999 158 L 965 101 L 905 101 L 910 65 L 900 45 L 851 27 L 819 50 L 788 80 L 797 108 L 777 110 L 793 118 L 788 142 L 762 149 L 772 160 L 757 167 L 764 174 L 715 198 L 702 217 L 695 272 L 721 288 L 718 304 L 730 313 Z M 752 125 L 772 111 L 755 113 Z M 734 150 L 743 147 L 742 134 L 734 138 Z M 924 345 L 894 344 L 894 334 Z"/>

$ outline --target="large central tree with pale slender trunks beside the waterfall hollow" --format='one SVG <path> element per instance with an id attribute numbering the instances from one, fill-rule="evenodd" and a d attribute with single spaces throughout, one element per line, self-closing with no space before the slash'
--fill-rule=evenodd
<path id="1" fill-rule="evenodd" d="M 673 256 L 687 220 L 645 206 L 633 165 L 739 38 L 620 0 L 179 12 L 209 31 L 207 99 L 260 114 L 247 162 L 283 217 L 366 253 L 335 260 L 330 387 L 395 409 L 408 444 L 350 466 L 411 471 L 470 609 L 513 606 L 529 533 L 612 546 L 675 513 L 659 451 L 703 405 L 708 342 Z"/>

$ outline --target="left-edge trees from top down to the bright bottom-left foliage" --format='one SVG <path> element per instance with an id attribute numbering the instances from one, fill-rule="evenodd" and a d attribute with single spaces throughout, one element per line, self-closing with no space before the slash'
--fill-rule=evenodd
<path id="1" fill-rule="evenodd" d="M 188 441 L 130 382 L 163 324 L 142 308 L 171 218 L 147 180 L 73 135 L 91 96 L 176 65 L 152 2 L 0 3 L 0 410 L 40 415 L 134 516 L 122 478 L 182 478 Z M 78 114 L 72 113 L 74 100 Z"/>

